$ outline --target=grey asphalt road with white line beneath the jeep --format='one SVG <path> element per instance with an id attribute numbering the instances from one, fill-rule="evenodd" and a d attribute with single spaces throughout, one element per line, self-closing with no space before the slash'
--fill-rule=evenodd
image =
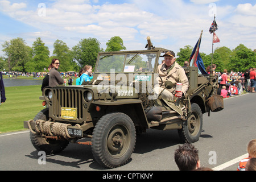
<path id="1" fill-rule="evenodd" d="M 238 162 L 233 159 L 246 156 L 247 143 L 256 138 L 255 103 L 256 94 L 247 93 L 225 99 L 224 110 L 210 113 L 210 117 L 203 115 L 203 132 L 194 143 L 201 167 L 236 171 Z M 129 163 L 106 169 L 94 161 L 90 146 L 70 143 L 60 154 L 46 156 L 46 164 L 42 164 L 42 155 L 32 146 L 28 130 L 3 133 L 0 134 L 0 170 L 178 171 L 174 151 L 180 144 L 176 130 L 147 130 L 137 137 Z"/>

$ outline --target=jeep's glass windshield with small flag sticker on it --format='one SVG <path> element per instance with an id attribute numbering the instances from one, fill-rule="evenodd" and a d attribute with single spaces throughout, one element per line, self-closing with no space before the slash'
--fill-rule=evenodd
<path id="1" fill-rule="evenodd" d="M 156 53 L 122 53 L 100 55 L 96 65 L 95 73 L 146 72 L 152 73 L 155 67 Z"/>

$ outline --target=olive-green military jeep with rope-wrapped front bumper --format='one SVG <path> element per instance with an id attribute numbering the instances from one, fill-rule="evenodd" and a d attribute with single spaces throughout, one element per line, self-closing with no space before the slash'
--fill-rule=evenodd
<path id="1" fill-rule="evenodd" d="M 212 72 L 198 74 L 184 68 L 189 80 L 185 96 L 167 101 L 154 93 L 162 86 L 157 67 L 167 49 L 152 47 L 148 39 L 142 51 L 101 52 L 93 79 L 82 85 L 46 87 L 41 100 L 47 107 L 24 121 L 38 151 L 55 154 L 69 142 L 90 144 L 94 159 L 114 168 L 126 164 L 137 134 L 147 129 L 177 130 L 182 142 L 199 140 L 207 98 L 217 89 Z M 166 88 L 175 87 L 171 82 Z M 164 132 L 164 131 L 163 131 Z M 81 142 L 89 138 L 86 142 Z"/>

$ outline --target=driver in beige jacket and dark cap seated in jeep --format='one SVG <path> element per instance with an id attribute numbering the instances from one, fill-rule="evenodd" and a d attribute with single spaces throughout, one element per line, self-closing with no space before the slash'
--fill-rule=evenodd
<path id="1" fill-rule="evenodd" d="M 188 78 L 185 75 L 185 71 L 175 61 L 175 53 L 173 51 L 167 51 L 164 54 L 164 63 L 158 65 L 159 77 L 162 78 L 163 84 L 161 87 L 160 85 L 156 87 L 156 94 L 160 94 L 160 92 L 162 92 L 162 90 L 164 89 L 164 82 L 166 82 L 167 80 L 171 81 L 174 84 L 171 89 L 165 89 L 162 93 L 163 99 L 168 101 L 174 100 L 177 82 L 180 82 L 182 84 L 182 89 L 181 92 L 176 93 L 176 97 L 184 96 L 188 90 Z M 159 78 L 159 84 L 162 82 L 162 80 Z"/>

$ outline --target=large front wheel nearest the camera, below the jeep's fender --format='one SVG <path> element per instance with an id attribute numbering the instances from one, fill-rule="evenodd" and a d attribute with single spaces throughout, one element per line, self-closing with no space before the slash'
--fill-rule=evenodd
<path id="1" fill-rule="evenodd" d="M 94 127 L 92 152 L 101 166 L 115 168 L 126 164 L 135 143 L 134 123 L 126 114 L 106 114 Z"/>

